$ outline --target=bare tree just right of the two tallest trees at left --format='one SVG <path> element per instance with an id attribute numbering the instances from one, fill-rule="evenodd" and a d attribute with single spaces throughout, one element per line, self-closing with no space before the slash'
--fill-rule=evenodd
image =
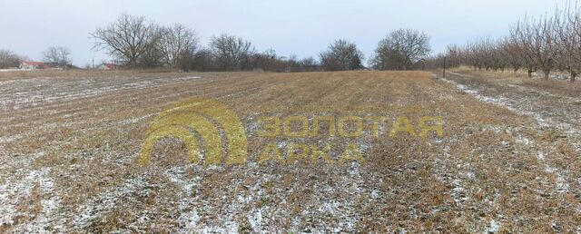
<path id="1" fill-rule="evenodd" d="M 241 37 L 222 34 L 212 36 L 210 48 L 222 71 L 239 71 L 251 68 L 251 55 L 255 53 L 251 42 Z"/>

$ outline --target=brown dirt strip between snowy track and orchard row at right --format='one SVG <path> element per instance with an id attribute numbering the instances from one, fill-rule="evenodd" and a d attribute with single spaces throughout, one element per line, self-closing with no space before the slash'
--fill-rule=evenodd
<path id="1" fill-rule="evenodd" d="M 497 103 L 523 115 L 533 116 L 543 129 L 571 136 L 581 134 L 581 83 L 544 81 L 524 73 L 474 72 L 456 69 L 448 80 L 484 102 Z"/>

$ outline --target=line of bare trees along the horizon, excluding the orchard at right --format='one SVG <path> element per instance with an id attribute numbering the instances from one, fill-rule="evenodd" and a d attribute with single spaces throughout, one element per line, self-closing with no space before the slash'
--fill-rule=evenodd
<path id="1" fill-rule="evenodd" d="M 315 57 L 298 59 L 281 56 L 270 49 L 258 52 L 254 45 L 231 34 L 213 35 L 203 46 L 192 28 L 184 24 L 161 25 L 144 16 L 120 15 L 116 21 L 97 28 L 90 37 L 94 50 L 109 54 L 127 69 L 169 67 L 182 71 L 233 72 L 314 72 L 361 69 L 414 70 L 423 67 L 431 52 L 427 34 L 399 29 L 379 41 L 369 57 L 357 44 L 345 39 L 332 42 Z M 0 50 L 0 69 L 17 66 L 25 58 Z M 70 64 L 65 47 L 51 47 L 44 53 L 45 62 Z"/>

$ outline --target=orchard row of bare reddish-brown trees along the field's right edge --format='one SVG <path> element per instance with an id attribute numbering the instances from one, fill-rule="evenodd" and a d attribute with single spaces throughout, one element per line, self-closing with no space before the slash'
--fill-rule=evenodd
<path id="1" fill-rule="evenodd" d="M 448 66 L 469 65 L 474 69 L 569 73 L 571 82 L 581 72 L 581 8 L 566 7 L 555 15 L 525 17 L 512 24 L 510 34 L 500 39 L 480 39 L 464 46 L 448 45 L 446 54 L 431 63 Z"/>

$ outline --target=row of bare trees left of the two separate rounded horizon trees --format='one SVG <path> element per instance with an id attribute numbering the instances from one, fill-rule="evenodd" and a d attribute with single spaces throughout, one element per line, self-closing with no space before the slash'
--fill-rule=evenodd
<path id="1" fill-rule="evenodd" d="M 121 15 L 115 22 L 91 34 L 94 49 L 123 61 L 131 68 L 169 66 L 185 71 L 313 70 L 312 60 L 278 56 L 270 50 L 257 53 L 251 42 L 230 34 L 214 35 L 202 47 L 188 26 L 155 24 L 143 16 Z"/>

